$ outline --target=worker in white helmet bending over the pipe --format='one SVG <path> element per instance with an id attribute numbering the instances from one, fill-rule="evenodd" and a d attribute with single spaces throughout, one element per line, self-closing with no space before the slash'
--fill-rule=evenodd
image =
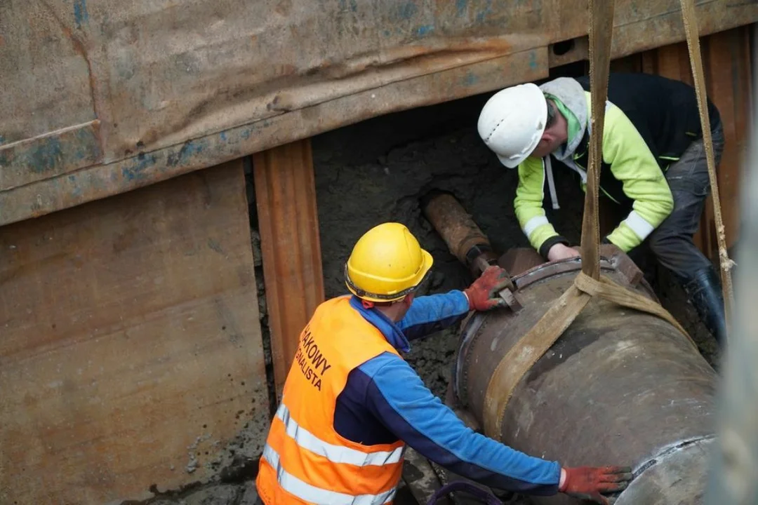
<path id="1" fill-rule="evenodd" d="M 587 182 L 590 137 L 589 79 L 561 77 L 503 89 L 481 111 L 481 139 L 508 168 L 518 167 L 516 217 L 531 245 L 547 260 L 579 253 L 550 224 L 545 182 L 559 209 L 553 161 Z M 647 74 L 611 74 L 603 131 L 600 195 L 626 218 L 603 242 L 632 256 L 652 252 L 671 270 L 719 343 L 725 317 L 719 275 L 692 242 L 709 191 L 709 176 L 694 89 Z M 709 102 L 716 163 L 724 148 L 719 111 Z M 639 246 L 643 247 L 639 247 Z"/>

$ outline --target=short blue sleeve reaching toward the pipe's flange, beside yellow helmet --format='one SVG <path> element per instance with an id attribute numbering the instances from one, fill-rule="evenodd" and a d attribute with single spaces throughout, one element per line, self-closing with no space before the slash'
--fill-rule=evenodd
<path id="1" fill-rule="evenodd" d="M 453 326 L 467 313 L 468 298 L 463 291 L 455 289 L 442 295 L 415 298 L 397 326 L 408 340 L 414 340 Z"/>

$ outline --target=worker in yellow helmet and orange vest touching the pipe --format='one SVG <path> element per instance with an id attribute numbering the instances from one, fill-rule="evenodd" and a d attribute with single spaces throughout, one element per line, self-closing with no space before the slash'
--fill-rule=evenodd
<path id="1" fill-rule="evenodd" d="M 370 229 L 345 265 L 352 295 L 325 301 L 299 336 L 256 486 L 266 505 L 391 503 L 406 444 L 470 479 L 526 494 L 607 503 L 628 469 L 562 469 L 468 429 L 402 359 L 409 340 L 502 304 L 488 268 L 464 291 L 419 296 L 431 254 L 400 223 Z"/>

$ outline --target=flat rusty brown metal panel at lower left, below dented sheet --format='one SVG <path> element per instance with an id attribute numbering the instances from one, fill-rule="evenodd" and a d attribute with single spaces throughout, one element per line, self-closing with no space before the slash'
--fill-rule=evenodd
<path id="1" fill-rule="evenodd" d="M 0 503 L 146 499 L 265 428 L 244 185 L 236 162 L 2 228 Z"/>

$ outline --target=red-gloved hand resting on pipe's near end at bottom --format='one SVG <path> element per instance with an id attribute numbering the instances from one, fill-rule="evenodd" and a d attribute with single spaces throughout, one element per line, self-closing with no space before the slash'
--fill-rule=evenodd
<path id="1" fill-rule="evenodd" d="M 609 505 L 603 493 L 623 491 L 631 481 L 628 466 L 578 466 L 564 468 L 558 491 L 580 500 Z"/>

